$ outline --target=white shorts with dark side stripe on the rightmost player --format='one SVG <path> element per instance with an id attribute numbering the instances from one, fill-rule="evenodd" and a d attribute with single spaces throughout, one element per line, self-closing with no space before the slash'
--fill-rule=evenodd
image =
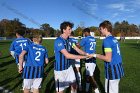
<path id="1" fill-rule="evenodd" d="M 109 87 L 108 87 L 108 79 L 105 79 L 105 92 L 106 93 L 119 93 L 119 82 L 120 82 L 120 79 L 109 80 Z M 107 92 L 108 90 L 109 92 Z"/>

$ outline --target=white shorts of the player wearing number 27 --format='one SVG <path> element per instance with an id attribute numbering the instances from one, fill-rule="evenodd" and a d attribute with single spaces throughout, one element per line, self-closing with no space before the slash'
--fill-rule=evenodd
<path id="1" fill-rule="evenodd" d="M 85 63 L 86 75 L 93 76 L 96 64 L 95 63 Z"/>

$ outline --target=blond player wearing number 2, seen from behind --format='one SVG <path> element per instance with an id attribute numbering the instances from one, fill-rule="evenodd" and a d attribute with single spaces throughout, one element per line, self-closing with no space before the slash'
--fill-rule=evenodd
<path id="1" fill-rule="evenodd" d="M 19 56 L 19 73 L 23 77 L 24 93 L 29 93 L 33 89 L 33 93 L 39 93 L 41 82 L 44 74 L 44 62 L 48 63 L 48 54 L 44 46 L 41 45 L 42 37 L 40 35 L 33 36 L 33 43 L 30 43 L 23 49 Z M 27 54 L 27 61 L 23 69 L 24 56 Z"/>

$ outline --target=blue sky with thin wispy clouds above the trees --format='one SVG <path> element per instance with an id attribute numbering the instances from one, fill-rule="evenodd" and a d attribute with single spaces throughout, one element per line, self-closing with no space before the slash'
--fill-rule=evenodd
<path id="1" fill-rule="evenodd" d="M 0 0 L 0 20 L 19 18 L 29 28 L 48 23 L 55 29 L 63 21 L 74 28 L 98 27 L 103 20 L 140 25 L 139 6 L 140 0 Z"/>

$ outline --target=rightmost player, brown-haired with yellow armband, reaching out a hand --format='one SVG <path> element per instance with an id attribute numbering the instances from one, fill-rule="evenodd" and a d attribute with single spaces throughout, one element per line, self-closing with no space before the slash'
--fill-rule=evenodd
<path id="1" fill-rule="evenodd" d="M 112 24 L 109 21 L 105 20 L 100 23 L 99 30 L 105 36 L 102 44 L 103 55 L 94 54 L 93 56 L 104 60 L 105 92 L 119 93 L 119 82 L 124 76 L 120 45 L 111 34 Z"/>

